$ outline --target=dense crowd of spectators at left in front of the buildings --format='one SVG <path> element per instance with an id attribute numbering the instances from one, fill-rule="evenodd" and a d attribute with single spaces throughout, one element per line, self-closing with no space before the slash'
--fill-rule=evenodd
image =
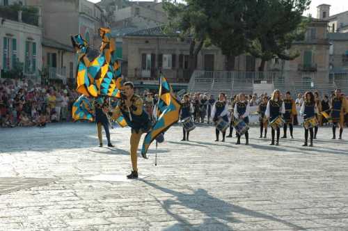
<path id="1" fill-rule="evenodd" d="M 45 126 L 47 122 L 71 120 L 72 104 L 78 95 L 63 86 L 35 85 L 24 80 L 0 83 L 0 126 Z"/>

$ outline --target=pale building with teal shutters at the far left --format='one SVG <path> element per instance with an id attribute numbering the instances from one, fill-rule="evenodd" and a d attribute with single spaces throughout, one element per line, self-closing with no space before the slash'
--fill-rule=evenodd
<path id="1" fill-rule="evenodd" d="M 7 3 L 7 2 L 5 2 Z M 17 3 L 17 2 L 15 2 Z M 1 78 L 26 77 L 37 81 L 42 69 L 42 29 L 38 26 L 38 15 L 27 17 L 3 6 L 6 13 L 0 17 L 0 70 Z M 15 75 L 15 76 L 14 76 Z"/>

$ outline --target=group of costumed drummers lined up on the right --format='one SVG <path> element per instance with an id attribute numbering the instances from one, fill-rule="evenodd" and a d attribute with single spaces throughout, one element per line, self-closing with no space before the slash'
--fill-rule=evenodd
<path id="1" fill-rule="evenodd" d="M 189 131 L 195 128 L 192 120 L 189 120 L 193 111 L 189 95 L 185 95 L 182 101 L 181 120 L 183 124 L 182 141 L 188 141 Z M 331 111 L 331 113 L 329 113 Z M 331 99 L 331 108 L 322 111 L 322 105 L 319 100 L 318 93 L 305 93 L 304 101 L 301 104 L 299 111 L 303 117 L 304 128 L 304 143 L 303 146 L 313 146 L 313 140 L 317 138 L 319 124 L 323 118 L 327 122 L 332 122 L 333 139 L 336 138 L 336 127 L 340 127 L 339 139 L 342 139 L 344 127 L 344 114 L 348 113 L 348 101 L 342 97 L 340 90 L 335 90 L 335 96 Z M 283 136 L 287 138 L 287 127 L 290 130 L 290 137 L 294 138 L 294 121 L 297 120 L 297 111 L 295 100 L 292 99 L 291 93 L 287 92 L 284 99 L 280 98 L 280 91 L 274 90 L 271 99 L 267 96 L 262 98 L 262 102 L 258 106 L 258 114 L 260 115 L 260 138 L 267 138 L 267 127 L 271 127 L 271 143 L 270 145 L 279 145 L 280 128 L 283 127 Z M 230 134 L 227 137 L 232 137 L 232 131 L 236 129 L 237 143 L 240 144 L 241 137 L 244 135 L 246 145 L 248 145 L 248 122 L 250 115 L 250 106 L 244 94 L 239 94 L 232 102 L 232 110 L 230 116 L 228 112 L 228 102 L 224 93 L 219 94 L 219 100 L 214 103 L 211 110 L 211 118 L 216 126 L 216 140 L 219 141 L 219 134 L 222 133 L 222 142 L 225 141 L 226 130 L 230 127 Z M 309 136 L 309 137 L 308 137 Z M 308 142 L 309 138 L 309 142 Z"/>

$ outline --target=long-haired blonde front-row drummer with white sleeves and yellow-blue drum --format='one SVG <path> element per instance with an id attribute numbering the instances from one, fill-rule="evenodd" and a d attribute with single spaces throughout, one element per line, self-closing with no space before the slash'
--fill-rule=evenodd
<path id="1" fill-rule="evenodd" d="M 285 113 L 285 106 L 284 106 L 283 100 L 280 99 L 280 91 L 274 90 L 271 99 L 269 99 L 269 102 L 267 103 L 266 116 L 267 118 L 269 118 L 269 122 L 271 122 L 274 119 L 276 119 L 278 116 L 281 116 L 284 113 Z M 275 130 L 273 127 L 271 127 L 271 129 L 272 129 L 272 141 L 270 145 L 274 145 L 274 136 L 276 134 L 276 130 L 277 130 L 276 145 L 279 145 L 280 128 L 277 127 L 277 129 Z"/>

